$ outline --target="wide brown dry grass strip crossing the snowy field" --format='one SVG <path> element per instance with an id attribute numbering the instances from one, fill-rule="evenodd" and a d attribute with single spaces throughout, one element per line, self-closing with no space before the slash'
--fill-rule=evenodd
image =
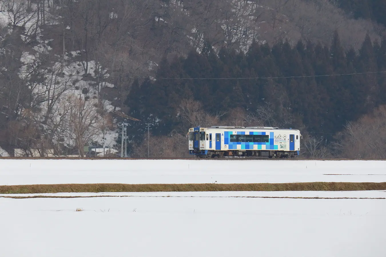
<path id="1" fill-rule="evenodd" d="M 306 182 L 251 184 L 52 184 L 0 186 L 2 194 L 81 192 L 194 192 L 194 191 L 357 191 L 386 190 L 386 182 Z"/>

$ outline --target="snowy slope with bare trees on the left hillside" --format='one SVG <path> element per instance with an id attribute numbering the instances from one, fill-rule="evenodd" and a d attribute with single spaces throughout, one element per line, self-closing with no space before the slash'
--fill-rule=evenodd
<path id="1" fill-rule="evenodd" d="M 20 69 L 16 72 L 28 87 L 30 100 L 18 110 L 20 116 L 36 124 L 35 129 L 48 137 L 42 143 L 56 152 L 66 154 L 63 147 L 67 151 L 78 148 L 83 151 L 83 146 L 91 142 L 113 147 L 117 131 L 114 120 L 107 116 L 113 106 L 111 101 L 101 97 L 104 87 L 114 87 L 105 81 L 109 77 L 107 69 L 95 60 L 77 60 L 81 51 L 66 51 L 64 56 L 52 53 L 50 45 L 54 39 L 43 29 L 58 25 L 61 18 L 51 15 L 52 1 L 43 1 L 44 21 L 42 17 L 39 19 L 39 12 L 43 10 L 38 3 L 6 2 L 0 12 L 0 27 L 9 29 L 2 40 L 18 33 L 25 44 L 21 46 L 25 50 L 20 55 Z M 16 32 L 15 28 L 19 27 L 22 29 Z M 2 50 L 7 52 L 7 49 Z M 48 56 L 51 59 L 47 61 Z M 3 71 L 7 70 L 3 67 Z"/>

